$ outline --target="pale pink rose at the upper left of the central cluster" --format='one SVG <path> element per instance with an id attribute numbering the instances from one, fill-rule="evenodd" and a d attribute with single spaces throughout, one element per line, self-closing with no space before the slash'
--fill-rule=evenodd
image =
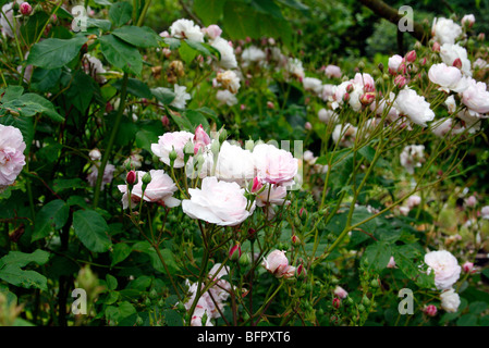
<path id="1" fill-rule="evenodd" d="M 184 162 L 184 147 L 185 144 L 194 139 L 194 134 L 185 130 L 164 133 L 158 138 L 158 144 L 151 144 L 151 151 L 160 161 L 170 165 L 170 152 L 174 149 L 176 152 L 176 160 L 174 167 L 183 167 Z M 192 154 L 192 153 L 191 153 Z"/>

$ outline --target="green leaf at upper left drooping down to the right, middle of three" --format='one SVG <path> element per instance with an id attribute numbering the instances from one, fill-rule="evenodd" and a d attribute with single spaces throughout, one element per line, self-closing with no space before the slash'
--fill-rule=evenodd
<path id="1" fill-rule="evenodd" d="M 106 35 L 99 38 L 100 51 L 107 61 L 121 69 L 123 72 L 140 75 L 143 70 L 143 58 L 134 46 L 118 39 L 113 35 Z"/>

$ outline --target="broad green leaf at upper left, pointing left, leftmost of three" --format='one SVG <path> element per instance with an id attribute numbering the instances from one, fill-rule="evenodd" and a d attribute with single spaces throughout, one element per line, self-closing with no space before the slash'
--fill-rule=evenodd
<path id="1" fill-rule="evenodd" d="M 71 39 L 50 38 L 37 42 L 30 49 L 27 64 L 44 69 L 58 69 L 70 63 L 87 41 L 84 36 L 75 36 Z"/>

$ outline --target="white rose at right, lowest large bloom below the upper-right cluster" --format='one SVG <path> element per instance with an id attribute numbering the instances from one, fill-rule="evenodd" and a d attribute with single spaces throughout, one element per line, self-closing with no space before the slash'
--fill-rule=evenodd
<path id="1" fill-rule="evenodd" d="M 430 109 L 425 97 L 419 96 L 415 90 L 404 88 L 399 91 L 395 99 L 395 109 L 407 116 L 413 123 L 426 127 L 426 123 L 435 119 L 435 112 Z"/>

